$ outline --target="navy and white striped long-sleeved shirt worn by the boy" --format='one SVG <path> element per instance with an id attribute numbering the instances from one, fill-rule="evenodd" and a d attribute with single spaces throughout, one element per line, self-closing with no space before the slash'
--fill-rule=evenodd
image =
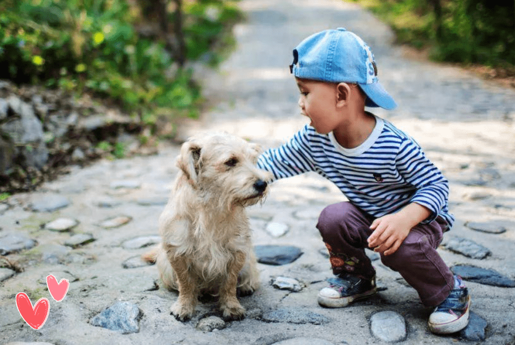
<path id="1" fill-rule="evenodd" d="M 349 201 L 374 217 L 415 202 L 440 215 L 449 227 L 449 182 L 418 143 L 390 122 L 376 117 L 374 130 L 357 148 L 341 147 L 333 133 L 319 134 L 305 125 L 283 146 L 264 152 L 261 169 L 274 180 L 315 171 L 331 180 Z"/>

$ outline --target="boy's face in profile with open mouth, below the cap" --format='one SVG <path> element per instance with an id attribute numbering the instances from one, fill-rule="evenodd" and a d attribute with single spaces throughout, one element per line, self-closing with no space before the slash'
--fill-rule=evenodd
<path id="1" fill-rule="evenodd" d="M 311 119 L 310 125 L 320 134 L 332 132 L 339 124 L 336 112 L 337 84 L 295 78 L 299 87 L 299 106 L 302 115 Z"/>

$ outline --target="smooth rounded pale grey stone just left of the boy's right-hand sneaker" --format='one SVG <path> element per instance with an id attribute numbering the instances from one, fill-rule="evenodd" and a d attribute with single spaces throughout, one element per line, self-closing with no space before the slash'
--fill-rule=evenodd
<path id="1" fill-rule="evenodd" d="M 375 313 L 370 318 L 370 331 L 383 341 L 402 341 L 406 339 L 406 321 L 396 312 Z"/>

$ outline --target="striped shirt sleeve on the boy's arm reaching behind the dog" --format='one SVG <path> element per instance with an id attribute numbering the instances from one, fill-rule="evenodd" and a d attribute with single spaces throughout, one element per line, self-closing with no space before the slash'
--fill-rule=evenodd
<path id="1" fill-rule="evenodd" d="M 273 174 L 273 180 L 314 171 L 307 126 L 282 146 L 269 149 L 258 158 L 258 167 Z"/>

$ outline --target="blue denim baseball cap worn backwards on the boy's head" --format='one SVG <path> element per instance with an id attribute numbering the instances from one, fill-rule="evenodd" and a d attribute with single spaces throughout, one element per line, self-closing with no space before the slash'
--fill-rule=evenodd
<path id="1" fill-rule="evenodd" d="M 357 83 L 367 95 L 365 105 L 397 107 L 377 80 L 370 47 L 353 32 L 337 28 L 312 34 L 293 50 L 293 57 L 290 72 L 297 78 Z"/>

